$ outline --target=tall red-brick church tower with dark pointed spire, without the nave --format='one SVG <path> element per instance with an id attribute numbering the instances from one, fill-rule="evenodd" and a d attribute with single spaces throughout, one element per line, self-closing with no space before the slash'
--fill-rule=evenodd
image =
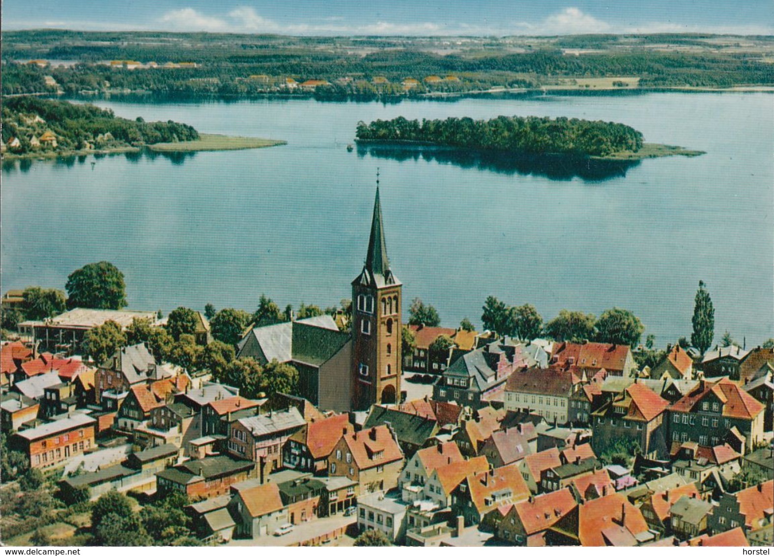
<path id="1" fill-rule="evenodd" d="M 378 174 L 377 174 L 378 176 Z M 401 283 L 387 258 L 382 205 L 376 200 L 368 254 L 352 281 L 352 409 L 400 401 Z"/>

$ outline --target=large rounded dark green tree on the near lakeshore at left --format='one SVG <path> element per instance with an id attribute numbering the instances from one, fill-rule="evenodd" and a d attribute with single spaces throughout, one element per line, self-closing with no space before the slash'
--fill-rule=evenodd
<path id="1" fill-rule="evenodd" d="M 124 275 L 108 261 L 87 264 L 74 271 L 64 288 L 70 309 L 122 309 L 127 305 Z"/>

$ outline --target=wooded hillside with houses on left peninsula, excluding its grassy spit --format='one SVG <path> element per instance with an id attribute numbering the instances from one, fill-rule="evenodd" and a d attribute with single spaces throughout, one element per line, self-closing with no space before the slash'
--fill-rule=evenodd
<path id="1" fill-rule="evenodd" d="M 6 98 L 2 107 L 2 142 L 14 154 L 118 149 L 193 141 L 199 133 L 174 121 L 146 122 L 117 118 L 91 104 L 49 101 L 39 97 Z"/>

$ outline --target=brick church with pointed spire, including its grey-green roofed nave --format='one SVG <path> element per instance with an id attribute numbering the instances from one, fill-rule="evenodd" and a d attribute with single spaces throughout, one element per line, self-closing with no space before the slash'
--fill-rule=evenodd
<path id="1" fill-rule="evenodd" d="M 365 411 L 401 397 L 401 288 L 387 258 L 378 184 L 365 264 L 352 281 L 351 333 L 329 315 L 252 329 L 238 358 L 296 367 L 299 395 L 322 410 Z"/>

